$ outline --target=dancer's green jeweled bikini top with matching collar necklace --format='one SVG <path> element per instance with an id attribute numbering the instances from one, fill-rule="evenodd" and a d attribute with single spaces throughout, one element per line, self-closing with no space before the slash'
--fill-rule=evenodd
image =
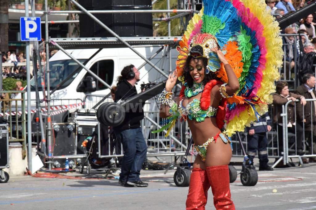
<path id="1" fill-rule="evenodd" d="M 187 84 L 184 84 L 185 86 Z M 192 88 L 189 88 L 186 86 L 185 88 L 185 97 L 192 97 L 196 96 L 200 92 L 204 90 L 204 85 L 202 83 L 193 83 Z M 199 99 L 193 99 L 191 102 L 189 102 L 185 107 L 183 106 L 183 100 L 182 99 L 179 102 L 178 110 L 181 115 L 187 115 L 190 120 L 193 118 L 196 119 L 197 122 L 202 122 L 207 117 L 216 117 L 217 108 L 209 107 L 207 110 L 202 110 L 200 107 L 200 100 Z"/>

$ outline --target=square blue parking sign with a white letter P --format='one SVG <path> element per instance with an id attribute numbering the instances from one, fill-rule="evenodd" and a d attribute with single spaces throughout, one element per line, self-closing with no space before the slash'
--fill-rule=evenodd
<path id="1" fill-rule="evenodd" d="M 20 17 L 21 41 L 40 41 L 40 17 Z"/>

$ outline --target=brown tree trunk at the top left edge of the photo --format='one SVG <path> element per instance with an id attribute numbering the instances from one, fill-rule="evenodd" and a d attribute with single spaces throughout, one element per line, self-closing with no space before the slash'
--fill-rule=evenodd
<path id="1" fill-rule="evenodd" d="M 9 50 L 9 1 L 8 0 L 0 0 L 0 51 L 6 52 Z"/>

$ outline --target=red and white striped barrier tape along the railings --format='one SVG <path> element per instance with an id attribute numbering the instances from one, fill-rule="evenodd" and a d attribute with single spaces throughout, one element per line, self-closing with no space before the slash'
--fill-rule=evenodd
<path id="1" fill-rule="evenodd" d="M 82 106 L 84 105 L 85 102 L 82 102 L 82 103 L 75 103 L 75 104 L 69 104 L 69 105 L 58 105 L 58 106 L 52 106 L 50 109 L 51 111 L 51 115 L 56 115 L 56 114 L 60 114 L 60 113 L 63 113 L 63 112 L 66 112 L 72 108 L 76 108 L 76 107 L 79 107 L 79 106 Z M 32 113 L 36 113 L 36 109 L 33 109 L 31 110 Z M 41 108 L 41 112 L 43 115 L 47 115 L 47 109 L 46 108 Z M 21 115 L 22 112 L 21 111 L 18 111 L 18 112 L 11 112 L 11 115 Z M 27 111 L 25 111 L 25 114 L 27 114 Z M 6 116 L 10 116 L 10 113 L 9 112 L 6 112 L 4 113 L 4 115 Z M 0 116 L 3 117 L 3 113 L 0 113 Z"/>

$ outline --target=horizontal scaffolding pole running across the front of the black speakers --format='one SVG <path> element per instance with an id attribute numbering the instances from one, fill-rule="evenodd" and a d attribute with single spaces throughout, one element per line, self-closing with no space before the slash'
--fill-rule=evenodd
<path id="1" fill-rule="evenodd" d="M 68 13 L 73 13 L 73 14 L 84 14 L 84 13 L 113 14 L 113 13 L 166 13 L 166 12 L 167 13 L 182 13 L 182 12 L 193 12 L 193 11 L 191 9 L 151 9 L 151 10 L 149 10 L 149 9 L 143 9 L 143 10 L 142 9 L 140 9 L 140 10 L 86 10 L 85 9 L 82 11 L 80 11 L 80 10 L 63 10 L 63 11 L 52 10 L 52 11 L 49 11 L 50 14 L 68 14 Z"/>

